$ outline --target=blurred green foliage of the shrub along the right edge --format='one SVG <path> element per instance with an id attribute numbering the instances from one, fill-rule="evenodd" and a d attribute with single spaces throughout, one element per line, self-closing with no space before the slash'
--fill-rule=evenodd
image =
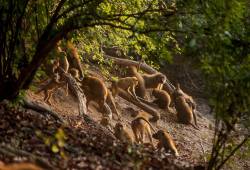
<path id="1" fill-rule="evenodd" d="M 209 169 L 220 169 L 234 149 L 249 138 L 250 4 L 244 0 L 220 0 L 204 2 L 199 7 L 205 12 L 190 16 L 195 32 L 186 38 L 186 52 L 196 56 L 206 76 L 216 118 Z M 237 123 L 247 130 L 239 143 L 230 140 Z"/>

